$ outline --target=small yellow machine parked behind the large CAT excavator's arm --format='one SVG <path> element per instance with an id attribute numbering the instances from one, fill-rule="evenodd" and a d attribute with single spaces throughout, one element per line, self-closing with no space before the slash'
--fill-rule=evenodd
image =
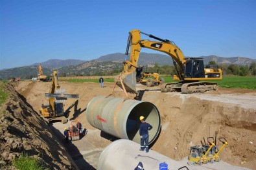
<path id="1" fill-rule="evenodd" d="M 136 79 L 138 83 L 146 84 L 148 87 L 165 83 L 165 79 L 159 78 L 157 72 L 143 72 L 143 67 L 136 68 Z"/>

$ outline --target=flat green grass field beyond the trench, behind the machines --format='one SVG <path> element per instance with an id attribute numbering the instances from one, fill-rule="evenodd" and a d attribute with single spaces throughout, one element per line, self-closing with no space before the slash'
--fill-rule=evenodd
<path id="1" fill-rule="evenodd" d="M 175 82 L 172 80 L 170 76 L 163 76 L 166 83 Z M 81 82 L 94 82 L 99 83 L 99 79 L 72 79 L 72 80 L 64 80 L 73 83 L 81 83 Z M 113 78 L 104 78 L 104 82 L 114 82 Z M 215 80 L 213 82 L 218 83 L 219 87 L 224 88 L 240 88 L 240 89 L 255 89 L 256 90 L 256 77 L 255 76 L 224 76 L 222 80 Z"/>

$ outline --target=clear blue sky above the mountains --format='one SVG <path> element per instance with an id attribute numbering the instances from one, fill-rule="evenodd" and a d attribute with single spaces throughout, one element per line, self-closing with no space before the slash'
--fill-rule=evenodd
<path id="1" fill-rule="evenodd" d="M 255 8 L 255 0 L 0 0 L 0 69 L 124 53 L 134 29 L 174 41 L 185 56 L 256 59 Z"/>

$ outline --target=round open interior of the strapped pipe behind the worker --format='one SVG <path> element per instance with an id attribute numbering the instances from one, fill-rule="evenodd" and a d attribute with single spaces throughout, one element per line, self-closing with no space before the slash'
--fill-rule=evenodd
<path id="1" fill-rule="evenodd" d="M 133 140 L 134 142 L 140 141 L 140 116 L 144 116 L 145 122 L 149 123 L 153 127 L 153 129 L 149 131 L 149 143 L 151 143 L 152 140 L 156 138 L 160 128 L 160 115 L 157 108 L 152 103 L 139 103 L 134 107 L 134 109 L 132 109 L 126 122 L 126 134 L 129 140 Z"/>

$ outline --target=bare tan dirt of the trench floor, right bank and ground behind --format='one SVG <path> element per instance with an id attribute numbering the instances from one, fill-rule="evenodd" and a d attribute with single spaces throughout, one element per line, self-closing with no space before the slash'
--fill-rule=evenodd
<path id="1" fill-rule="evenodd" d="M 89 125 L 86 107 L 95 96 L 111 94 L 114 83 L 104 83 L 104 88 L 100 88 L 99 83 L 60 83 L 62 89 L 79 94 L 80 98 L 64 102 L 64 111 L 69 114 L 68 123 L 49 125 L 51 135 L 60 142 L 51 145 L 65 148 L 76 164 L 72 168 L 97 169 L 100 153 L 117 138 Z M 47 82 L 19 81 L 15 89 L 39 114 L 41 104 L 48 101 L 44 95 L 50 85 Z M 154 103 L 161 114 L 161 133 L 150 149 L 187 165 L 190 147 L 200 144 L 203 137 L 217 133 L 217 137 L 224 137 L 228 142 L 220 153 L 222 161 L 202 167 L 232 169 L 235 165 L 237 169 L 256 169 L 256 90 L 220 88 L 204 94 L 181 94 L 163 93 L 159 88 L 137 85 L 140 90 L 137 99 Z M 129 98 L 135 97 L 135 94 L 128 95 Z M 125 94 L 115 87 L 113 96 L 124 98 Z M 65 142 L 63 131 L 71 120 L 81 122 L 87 134 L 80 140 Z M 189 168 L 195 166 L 198 165 Z"/>

